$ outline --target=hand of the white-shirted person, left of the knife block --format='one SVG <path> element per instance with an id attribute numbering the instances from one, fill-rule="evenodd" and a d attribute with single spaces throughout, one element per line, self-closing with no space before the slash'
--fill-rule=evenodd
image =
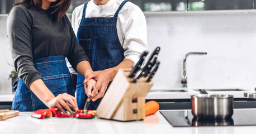
<path id="1" fill-rule="evenodd" d="M 91 93 L 91 98 L 93 102 L 103 97 L 103 95 L 107 90 L 108 83 L 110 83 L 114 77 L 115 77 L 115 74 L 112 73 L 111 69 L 106 69 L 103 71 L 94 71 L 93 73 L 86 76 L 84 83 L 87 83 L 92 79 L 97 80 L 96 85 L 95 87 L 93 87 L 93 90 Z M 87 90 L 90 90 L 89 87 Z M 89 96 L 89 92 L 88 92 L 88 96 Z"/>

